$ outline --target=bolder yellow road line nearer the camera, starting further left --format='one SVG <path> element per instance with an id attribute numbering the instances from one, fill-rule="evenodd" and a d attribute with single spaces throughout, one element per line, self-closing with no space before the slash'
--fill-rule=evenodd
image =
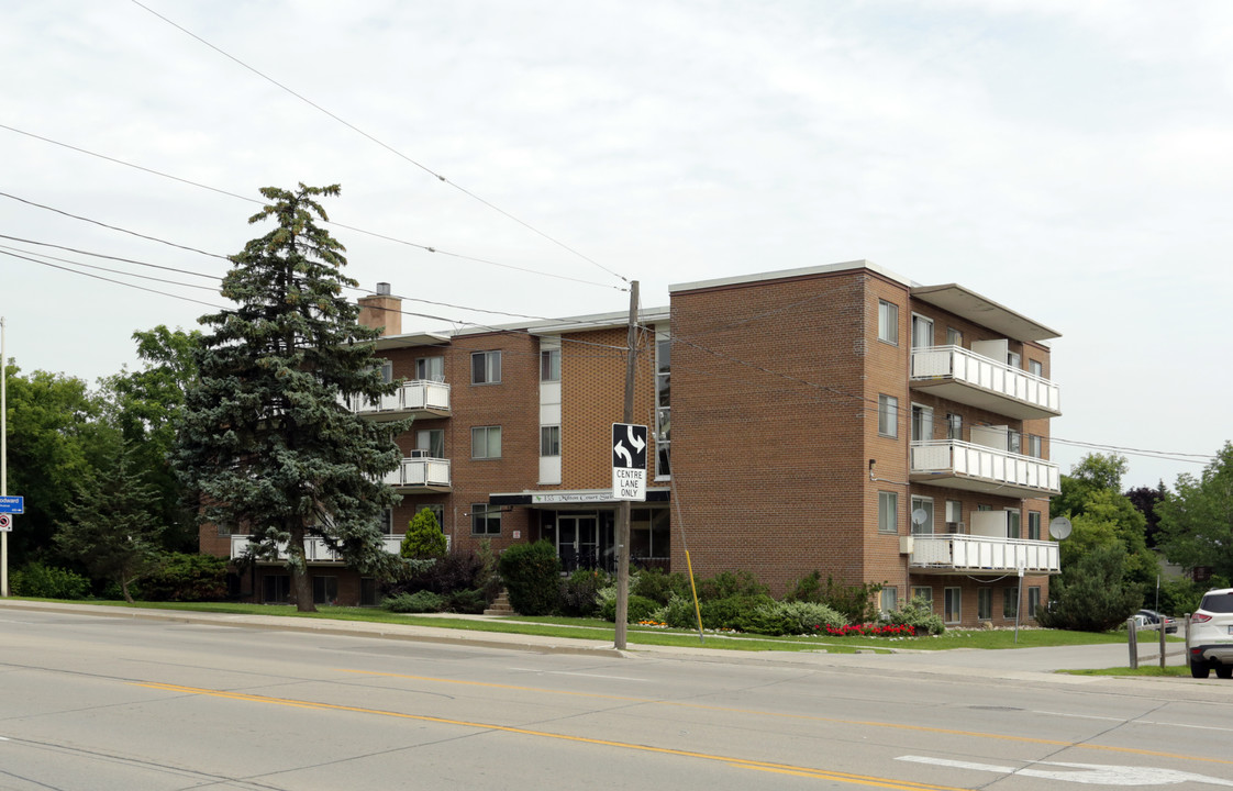
<path id="1" fill-rule="evenodd" d="M 679 758 L 694 758 L 699 760 L 716 761 L 730 766 L 743 769 L 757 769 L 762 771 L 774 771 L 782 774 L 798 775 L 803 777 L 817 777 L 834 780 L 837 782 L 851 782 L 880 789 L 899 789 L 901 791 L 968 791 L 954 786 L 937 786 L 911 780 L 893 780 L 890 777 L 875 777 L 870 775 L 854 775 L 843 771 L 831 771 L 826 769 L 811 769 L 809 766 L 793 766 L 792 764 L 776 764 L 771 761 L 752 760 L 747 758 L 735 758 L 731 755 L 714 755 L 710 753 L 697 753 L 693 750 L 676 750 L 666 747 L 652 747 L 650 744 L 634 744 L 630 742 L 614 742 L 610 739 L 594 739 L 584 736 L 570 736 L 567 733 L 551 733 L 549 731 L 533 731 L 530 728 L 517 728 L 513 726 L 492 724 L 488 722 L 470 722 L 466 720 L 449 720 L 446 717 L 432 717 L 428 715 L 408 715 L 398 711 L 383 711 L 380 708 L 363 708 L 360 706 L 342 706 L 337 704 L 319 704 L 308 700 L 295 700 L 290 697 L 270 697 L 266 695 L 250 695 L 248 692 L 228 692 L 223 690 L 210 690 L 195 686 L 180 686 L 178 684 L 133 683 L 134 686 L 163 690 L 168 692 L 181 692 L 185 695 L 203 695 L 208 697 L 222 697 L 254 704 L 272 704 L 276 706 L 292 706 L 295 708 L 314 708 L 321 711 L 346 711 L 361 715 L 375 715 L 380 717 L 396 717 L 398 720 L 414 720 L 418 722 L 434 722 L 438 724 L 459 726 L 464 728 L 478 728 L 481 731 L 498 731 L 502 733 L 517 733 L 519 736 L 534 736 L 562 742 L 576 742 L 580 744 L 596 744 L 600 747 L 614 747 L 619 749 L 639 750 L 644 753 L 656 753 L 658 755 L 674 755 Z"/>

